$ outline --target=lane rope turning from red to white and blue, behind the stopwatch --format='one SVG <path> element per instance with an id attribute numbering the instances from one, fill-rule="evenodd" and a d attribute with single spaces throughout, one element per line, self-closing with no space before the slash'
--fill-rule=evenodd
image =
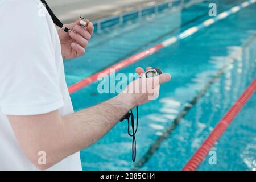
<path id="1" fill-rule="evenodd" d="M 69 86 L 68 91 L 70 94 L 72 94 L 72 93 L 76 92 L 77 90 L 80 90 L 80 89 L 84 88 L 85 86 L 88 86 L 88 85 L 92 84 L 93 82 L 97 81 L 98 78 L 100 78 L 99 76 L 102 73 L 103 73 L 102 75 L 109 75 L 110 69 L 114 69 L 115 71 L 118 71 L 119 69 L 125 68 L 130 64 L 133 64 L 139 60 L 142 60 L 144 57 L 152 55 L 153 53 L 159 51 L 160 49 L 162 49 L 164 47 L 171 46 L 172 44 L 176 43 L 178 40 L 187 38 L 188 36 L 195 34 L 197 31 L 199 31 L 205 27 L 209 27 L 210 25 L 218 22 L 219 20 L 225 19 L 226 17 L 228 17 L 231 14 L 237 13 L 238 11 L 242 10 L 243 8 L 245 8 L 249 5 L 252 5 L 253 3 L 255 3 L 255 1 L 256 0 L 245 1 L 245 2 L 241 3 L 241 5 L 234 6 L 234 7 L 232 7 L 232 9 L 230 9 L 228 11 L 224 11 L 224 12 L 218 14 L 214 18 L 205 20 L 204 22 L 200 23 L 198 26 L 188 28 L 187 30 L 181 32 L 177 36 L 172 36 L 171 38 L 164 40 L 162 43 L 159 43 L 156 46 L 153 46 L 153 47 L 148 48 L 142 52 L 139 52 L 134 56 L 131 56 L 123 61 L 120 61 L 119 63 L 114 64 L 109 68 L 106 68 L 98 73 L 93 74 L 92 76 L 85 78 L 84 80 L 82 80 L 80 82 L 77 82 L 76 84 Z"/>

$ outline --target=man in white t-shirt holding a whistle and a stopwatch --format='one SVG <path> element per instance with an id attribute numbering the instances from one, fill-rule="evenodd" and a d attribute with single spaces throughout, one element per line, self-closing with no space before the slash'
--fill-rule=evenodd
<path id="1" fill-rule="evenodd" d="M 85 53 L 93 24 L 82 28 L 77 20 L 66 25 L 75 32 L 56 31 L 48 13 L 39 16 L 40 5 L 39 0 L 0 0 L 0 169 L 81 170 L 79 151 L 127 111 L 148 102 L 148 94 L 121 93 L 73 113 L 63 57 Z M 159 84 L 170 78 L 160 75 Z"/>

